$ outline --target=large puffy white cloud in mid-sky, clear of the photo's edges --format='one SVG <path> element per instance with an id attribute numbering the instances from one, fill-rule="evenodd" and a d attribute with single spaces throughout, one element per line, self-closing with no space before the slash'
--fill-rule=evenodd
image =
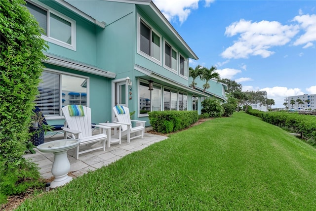
<path id="1" fill-rule="evenodd" d="M 228 59 L 248 58 L 251 55 L 266 58 L 275 53 L 270 48 L 285 45 L 298 32 L 298 26 L 295 25 L 282 25 L 277 21 L 251 22 L 241 19 L 226 27 L 226 36 L 239 35 L 239 37 L 221 55 Z"/>

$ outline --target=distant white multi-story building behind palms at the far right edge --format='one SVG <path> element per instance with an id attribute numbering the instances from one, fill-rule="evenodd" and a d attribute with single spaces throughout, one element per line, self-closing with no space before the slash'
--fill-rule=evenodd
<path id="1" fill-rule="evenodd" d="M 299 99 L 301 102 L 299 102 Z M 297 96 L 289 96 L 284 99 L 284 103 L 287 103 L 289 109 L 316 109 L 316 94 L 303 94 Z"/>

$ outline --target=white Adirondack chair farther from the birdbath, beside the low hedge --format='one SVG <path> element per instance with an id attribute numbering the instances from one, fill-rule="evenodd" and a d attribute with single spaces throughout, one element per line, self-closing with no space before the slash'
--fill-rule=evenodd
<path id="1" fill-rule="evenodd" d="M 130 120 L 129 109 L 125 106 L 122 106 L 125 111 L 125 114 L 118 114 L 116 107 L 113 107 L 113 111 L 116 115 L 118 123 L 122 125 L 121 137 L 127 136 L 127 142 L 130 143 L 130 140 L 133 138 L 142 137 L 145 134 L 145 123 L 146 121 L 140 120 Z M 132 127 L 132 122 L 136 123 L 136 127 Z M 131 136 L 132 135 L 132 136 Z"/>

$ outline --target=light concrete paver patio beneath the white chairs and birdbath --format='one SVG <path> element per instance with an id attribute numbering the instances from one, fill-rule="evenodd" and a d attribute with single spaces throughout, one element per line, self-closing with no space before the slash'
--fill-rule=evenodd
<path id="1" fill-rule="evenodd" d="M 95 131 L 96 133 L 98 131 Z M 132 139 L 130 143 L 127 143 L 127 140 L 122 138 L 121 144 L 111 144 L 110 148 L 106 148 L 105 151 L 102 149 L 94 150 L 79 155 L 79 159 L 76 160 L 75 149 L 68 150 L 67 157 L 70 162 L 70 176 L 78 177 L 87 173 L 88 171 L 93 171 L 99 169 L 103 166 L 107 166 L 118 159 L 128 155 L 132 152 L 144 149 L 145 147 L 166 139 L 166 136 L 154 135 L 151 133 L 145 132 L 143 138 Z M 45 138 L 45 143 L 53 140 L 63 139 L 62 134 L 56 134 L 53 138 Z M 93 146 L 101 145 L 101 143 L 96 143 Z M 87 146 L 80 146 L 84 148 Z M 54 161 L 53 153 L 41 153 L 37 148 L 35 148 L 36 154 L 25 154 L 24 157 L 31 159 L 34 163 L 38 164 L 40 168 L 40 175 L 45 179 L 51 179 L 53 177 L 51 173 L 51 168 Z"/>

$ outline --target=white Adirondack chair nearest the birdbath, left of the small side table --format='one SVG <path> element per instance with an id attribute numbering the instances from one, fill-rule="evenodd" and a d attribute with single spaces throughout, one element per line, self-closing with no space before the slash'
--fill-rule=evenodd
<path id="1" fill-rule="evenodd" d="M 62 108 L 65 116 L 67 127 L 64 127 L 64 138 L 67 138 L 67 132 L 72 133 L 72 137 L 79 139 L 80 144 L 77 147 L 76 159 L 78 160 L 79 154 L 90 152 L 93 150 L 103 149 L 105 151 L 107 135 L 111 135 L 111 127 L 92 125 L 91 124 L 91 109 L 83 107 L 84 116 L 70 116 L 69 106 Z M 92 126 L 100 128 L 100 134 L 92 135 Z M 92 147 L 96 142 L 103 142 L 102 146 Z M 79 152 L 79 146 L 87 145 L 91 148 Z"/>

